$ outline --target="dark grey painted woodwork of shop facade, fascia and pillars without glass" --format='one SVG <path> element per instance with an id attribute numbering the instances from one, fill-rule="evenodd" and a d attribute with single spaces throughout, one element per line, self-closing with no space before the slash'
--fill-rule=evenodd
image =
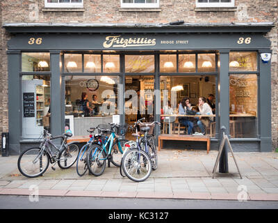
<path id="1" fill-rule="evenodd" d="M 160 89 L 158 61 L 161 51 L 177 50 L 188 52 L 213 52 L 216 63 L 221 66 L 214 75 L 218 86 L 215 92 L 215 138 L 211 139 L 212 149 L 217 149 L 220 141 L 220 126 L 229 126 L 229 53 L 256 52 L 258 69 L 257 135 L 254 138 L 231 139 L 235 151 L 272 151 L 271 141 L 271 61 L 263 63 L 261 53 L 271 53 L 270 40 L 264 37 L 272 23 L 255 24 L 4 24 L 3 27 L 11 38 L 7 43 L 8 54 L 8 116 L 10 154 L 19 154 L 35 141 L 22 138 L 22 52 L 49 52 L 50 71 L 40 75 L 51 76 L 51 133 L 64 132 L 65 126 L 65 73 L 60 70 L 64 52 L 113 51 L 120 54 L 120 72 L 118 75 L 124 86 L 124 55 L 152 52 L 155 56 L 154 89 Z M 36 41 L 38 40 L 38 42 Z M 244 74 L 245 72 L 238 72 Z M 250 73 L 250 72 L 246 72 Z M 201 73 L 196 72 L 195 75 Z M 30 72 L 29 75 L 35 75 Z M 76 73 L 74 75 L 84 75 Z M 90 74 L 87 74 L 90 75 Z M 95 74 L 94 74 L 95 75 Z M 101 74 L 100 74 L 101 75 Z M 147 74 L 146 74 L 147 75 Z M 170 74 L 168 74 L 170 75 Z M 175 75 L 181 75 L 175 73 Z M 194 74 L 182 74 L 194 75 Z M 202 74 L 201 74 L 202 75 Z M 124 98 L 124 89 L 119 92 Z M 122 95 L 121 95 L 122 94 Z M 160 105 L 160 99 L 155 99 Z M 124 106 L 124 101 L 122 105 Z M 124 114 L 120 114 L 124 122 Z M 159 112 L 154 116 L 161 120 Z M 156 129 L 156 134 L 158 130 Z M 229 128 L 227 128 L 229 134 Z M 167 144 L 167 143 L 166 143 Z M 197 145 L 197 144 L 196 144 Z"/>

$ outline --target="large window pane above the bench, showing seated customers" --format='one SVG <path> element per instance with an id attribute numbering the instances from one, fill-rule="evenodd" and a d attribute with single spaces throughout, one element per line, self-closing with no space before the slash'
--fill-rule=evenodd
<path id="1" fill-rule="evenodd" d="M 215 77 L 169 75 L 160 82 L 161 132 L 215 137 Z"/>

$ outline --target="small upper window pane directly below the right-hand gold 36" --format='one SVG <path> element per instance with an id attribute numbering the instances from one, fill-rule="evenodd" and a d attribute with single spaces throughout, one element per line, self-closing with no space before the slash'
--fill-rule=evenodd
<path id="1" fill-rule="evenodd" d="M 254 71 L 257 70 L 256 52 L 230 52 L 230 71 Z"/>

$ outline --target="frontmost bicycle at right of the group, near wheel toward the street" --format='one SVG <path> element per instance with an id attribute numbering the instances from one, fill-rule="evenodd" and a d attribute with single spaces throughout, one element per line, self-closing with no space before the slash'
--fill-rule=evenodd
<path id="1" fill-rule="evenodd" d="M 138 134 L 138 125 L 145 118 L 139 119 L 134 123 L 133 128 L 136 129 L 136 134 L 132 134 L 136 137 L 136 148 L 131 148 L 126 151 L 122 157 L 121 168 L 124 174 L 131 180 L 136 182 L 141 182 L 149 178 L 152 172 L 152 162 L 149 157 L 148 144 L 147 144 L 147 132 L 149 131 L 149 126 L 142 127 L 140 130 L 144 132 L 145 138 L 145 151 L 142 150 L 142 145 L 139 141 L 140 135 Z M 142 141 L 141 141 L 142 142 Z M 126 145 L 127 146 L 127 145 Z M 127 146 L 128 147 L 128 146 Z"/>

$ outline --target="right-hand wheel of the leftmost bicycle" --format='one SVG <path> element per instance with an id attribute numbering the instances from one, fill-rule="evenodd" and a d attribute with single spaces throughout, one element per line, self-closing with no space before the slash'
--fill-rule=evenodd
<path id="1" fill-rule="evenodd" d="M 58 166 L 61 169 L 68 169 L 76 162 L 79 155 L 79 146 L 70 144 L 62 149 L 58 156 Z"/>

